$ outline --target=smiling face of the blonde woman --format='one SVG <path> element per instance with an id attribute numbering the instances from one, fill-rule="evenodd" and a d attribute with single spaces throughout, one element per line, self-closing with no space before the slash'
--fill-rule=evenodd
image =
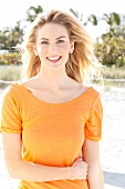
<path id="1" fill-rule="evenodd" d="M 72 53 L 73 49 L 74 42 L 70 41 L 65 27 L 45 23 L 39 29 L 34 53 L 40 57 L 41 67 L 65 68 L 69 53 Z"/>

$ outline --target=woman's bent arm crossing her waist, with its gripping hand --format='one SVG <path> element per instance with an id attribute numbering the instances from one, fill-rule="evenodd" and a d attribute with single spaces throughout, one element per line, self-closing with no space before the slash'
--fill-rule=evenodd
<path id="1" fill-rule="evenodd" d="M 86 178 L 87 168 L 82 161 L 79 163 L 83 167 L 81 171 L 76 162 L 72 167 L 49 167 L 23 161 L 21 158 L 21 135 L 2 131 L 2 142 L 4 160 L 11 178 L 38 182 Z"/>

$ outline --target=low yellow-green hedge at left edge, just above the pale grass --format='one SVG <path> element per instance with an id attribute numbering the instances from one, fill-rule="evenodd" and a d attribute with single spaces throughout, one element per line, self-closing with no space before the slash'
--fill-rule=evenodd
<path id="1" fill-rule="evenodd" d="M 0 64 L 21 64 L 18 52 L 9 52 L 0 54 Z"/>

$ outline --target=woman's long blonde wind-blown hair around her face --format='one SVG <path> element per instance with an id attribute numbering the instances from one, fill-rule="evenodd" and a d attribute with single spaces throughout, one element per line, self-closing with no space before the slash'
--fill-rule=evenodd
<path id="1" fill-rule="evenodd" d="M 40 13 L 31 23 L 31 28 L 23 41 L 22 62 L 25 79 L 37 76 L 40 71 L 41 61 L 34 54 L 33 44 L 37 42 L 38 30 L 45 23 L 56 23 L 66 28 L 70 40 L 74 41 L 74 51 L 70 53 L 65 64 L 69 77 L 77 82 L 85 83 L 93 73 L 98 76 L 100 63 L 96 60 L 93 42 L 85 31 L 83 24 L 71 12 L 51 10 Z"/>

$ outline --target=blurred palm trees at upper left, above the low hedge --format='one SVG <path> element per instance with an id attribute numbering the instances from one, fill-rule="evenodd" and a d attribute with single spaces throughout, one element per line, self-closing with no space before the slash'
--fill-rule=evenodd
<path id="1" fill-rule="evenodd" d="M 14 27 L 7 27 L 0 30 L 0 50 L 8 50 L 9 52 L 14 52 L 14 48 L 18 43 L 23 41 L 24 29 L 27 26 L 22 27 L 22 22 L 32 22 L 38 13 L 43 12 L 41 6 L 30 7 L 27 10 L 27 19 L 17 21 Z"/>

